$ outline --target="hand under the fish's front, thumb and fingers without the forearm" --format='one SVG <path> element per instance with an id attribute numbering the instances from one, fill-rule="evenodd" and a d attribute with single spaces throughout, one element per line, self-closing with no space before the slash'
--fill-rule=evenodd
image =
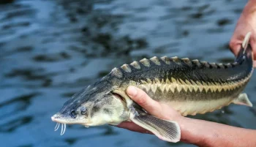
<path id="1" fill-rule="evenodd" d="M 138 105 L 143 107 L 152 116 L 173 121 L 179 121 L 182 118 L 184 118 L 176 110 L 170 108 L 170 106 L 163 103 L 159 103 L 148 97 L 148 94 L 146 94 L 140 88 L 129 86 L 127 88 L 127 94 L 132 100 L 137 102 Z M 117 127 L 129 129 L 134 132 L 153 134 L 149 132 L 147 129 L 144 129 L 143 127 L 140 127 L 137 124 L 133 123 L 132 121 L 124 121 L 121 124 L 118 124 Z"/>

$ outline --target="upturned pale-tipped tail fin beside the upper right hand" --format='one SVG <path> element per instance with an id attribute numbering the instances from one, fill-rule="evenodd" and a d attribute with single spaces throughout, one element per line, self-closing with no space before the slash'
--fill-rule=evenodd
<path id="1" fill-rule="evenodd" d="M 241 49 L 239 50 L 238 56 L 236 58 L 236 62 L 241 63 L 246 59 L 247 61 L 253 61 L 252 57 L 252 47 L 249 45 L 249 38 L 251 36 L 251 32 L 248 32 L 244 37 L 244 42 L 241 45 Z"/>

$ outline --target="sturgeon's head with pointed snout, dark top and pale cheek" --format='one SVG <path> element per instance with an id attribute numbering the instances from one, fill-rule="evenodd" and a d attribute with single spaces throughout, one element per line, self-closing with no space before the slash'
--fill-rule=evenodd
<path id="1" fill-rule="evenodd" d="M 61 110 L 51 117 L 52 121 L 86 127 L 126 121 L 129 119 L 128 108 L 124 99 L 112 92 L 115 88 L 108 80 L 84 88 L 64 103 Z"/>

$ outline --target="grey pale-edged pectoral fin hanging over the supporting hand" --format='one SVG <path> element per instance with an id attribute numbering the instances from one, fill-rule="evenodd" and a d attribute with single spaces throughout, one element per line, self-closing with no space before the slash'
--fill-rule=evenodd
<path id="1" fill-rule="evenodd" d="M 130 119 L 144 129 L 157 135 L 159 139 L 176 143 L 181 139 L 181 129 L 176 121 L 167 121 L 149 114 L 132 113 Z"/>

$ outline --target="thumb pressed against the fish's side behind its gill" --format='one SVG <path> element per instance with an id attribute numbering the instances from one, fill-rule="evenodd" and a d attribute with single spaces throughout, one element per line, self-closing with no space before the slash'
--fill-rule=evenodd
<path id="1" fill-rule="evenodd" d="M 135 86 L 129 86 L 127 88 L 127 94 L 132 100 L 137 102 L 138 105 L 140 105 L 153 116 L 159 116 L 159 113 L 162 111 L 162 107 L 159 102 L 154 101 L 153 99 L 148 97 L 148 94 L 146 94 L 146 92 L 144 92 L 140 88 L 137 88 Z"/>

